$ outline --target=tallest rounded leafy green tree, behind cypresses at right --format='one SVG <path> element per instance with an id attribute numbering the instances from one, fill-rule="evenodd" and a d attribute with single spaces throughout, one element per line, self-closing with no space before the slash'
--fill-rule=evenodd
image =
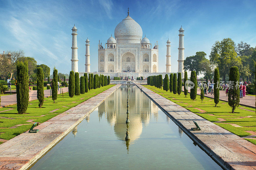
<path id="1" fill-rule="evenodd" d="M 221 42 L 216 41 L 212 46 L 210 62 L 217 65 L 222 81 L 226 81 L 226 75 L 230 67 L 241 66 L 241 58 L 236 54 L 235 42 L 231 38 L 225 38 Z"/>

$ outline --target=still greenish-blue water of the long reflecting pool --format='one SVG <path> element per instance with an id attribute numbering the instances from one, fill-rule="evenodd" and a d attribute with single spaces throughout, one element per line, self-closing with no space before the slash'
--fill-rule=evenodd
<path id="1" fill-rule="evenodd" d="M 140 89 L 122 85 L 31 169 L 221 169 Z"/>

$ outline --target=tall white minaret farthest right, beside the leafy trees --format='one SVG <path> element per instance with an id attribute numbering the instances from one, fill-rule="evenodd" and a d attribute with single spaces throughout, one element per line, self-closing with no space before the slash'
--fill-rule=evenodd
<path id="1" fill-rule="evenodd" d="M 178 72 L 181 73 L 181 75 L 183 75 L 182 73 L 184 73 L 184 30 L 182 28 L 182 26 L 180 27 L 179 30 L 180 34 L 179 34 L 179 56 L 178 56 Z M 183 77 L 183 76 L 182 76 Z"/>

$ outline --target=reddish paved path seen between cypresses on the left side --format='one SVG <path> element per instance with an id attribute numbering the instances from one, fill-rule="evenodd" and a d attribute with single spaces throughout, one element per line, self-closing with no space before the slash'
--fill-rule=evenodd
<path id="1" fill-rule="evenodd" d="M 61 91 L 58 91 L 58 94 L 63 92 L 68 92 L 68 87 L 63 87 L 61 88 Z M 49 97 L 51 96 L 51 90 L 44 90 L 44 97 Z M 36 90 L 30 90 L 29 91 L 29 101 L 31 100 L 37 100 L 37 91 Z M 12 95 L 6 95 L 6 96 L 1 96 L 1 107 L 6 107 L 9 105 L 14 105 L 17 104 L 17 97 L 16 94 Z"/>

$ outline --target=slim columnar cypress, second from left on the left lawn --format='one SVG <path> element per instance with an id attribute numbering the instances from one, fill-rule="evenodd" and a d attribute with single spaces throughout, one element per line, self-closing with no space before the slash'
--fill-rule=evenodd
<path id="1" fill-rule="evenodd" d="M 38 106 L 41 108 L 44 104 L 44 71 L 41 67 L 37 67 L 36 78 Z"/>

